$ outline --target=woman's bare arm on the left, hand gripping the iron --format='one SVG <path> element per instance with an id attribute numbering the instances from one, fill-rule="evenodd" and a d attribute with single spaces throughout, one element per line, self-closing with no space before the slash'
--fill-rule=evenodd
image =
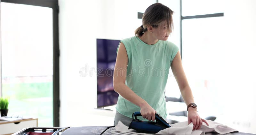
<path id="1" fill-rule="evenodd" d="M 127 85 L 125 79 L 127 74 L 128 56 L 124 44 L 121 42 L 117 51 L 116 65 L 114 69 L 114 90 L 122 97 L 140 107 L 143 118 L 149 121 L 155 120 L 155 110 L 140 96 L 135 94 Z"/>

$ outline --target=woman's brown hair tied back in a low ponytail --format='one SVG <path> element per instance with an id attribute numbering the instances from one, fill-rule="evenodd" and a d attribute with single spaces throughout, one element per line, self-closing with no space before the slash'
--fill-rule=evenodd
<path id="1" fill-rule="evenodd" d="M 173 30 L 172 14 L 173 11 L 161 3 L 150 5 L 142 16 L 142 26 L 135 30 L 135 36 L 142 36 L 148 30 L 148 26 L 157 28 L 164 21 L 167 22 L 167 31 L 171 33 Z"/>

